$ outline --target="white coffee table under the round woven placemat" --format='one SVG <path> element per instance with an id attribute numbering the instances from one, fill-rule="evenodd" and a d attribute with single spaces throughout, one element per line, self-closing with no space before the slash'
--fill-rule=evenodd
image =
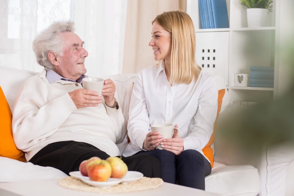
<path id="1" fill-rule="evenodd" d="M 29 182 L 11 182 L 11 183 L 0 183 L 0 195 L 2 196 L 59 196 L 59 195 L 70 195 L 70 196 L 93 196 L 93 195 L 130 195 L 130 196 L 183 196 L 183 195 L 193 195 L 193 196 L 220 196 L 216 193 L 206 192 L 199 189 L 184 187 L 180 185 L 174 185 L 164 182 L 163 185 L 157 187 L 156 189 L 143 190 L 137 192 L 128 192 L 120 194 L 98 194 L 90 192 L 81 192 L 71 189 L 66 189 L 58 184 L 60 179 L 50 179 L 50 180 L 39 180 L 39 181 L 29 181 Z"/>

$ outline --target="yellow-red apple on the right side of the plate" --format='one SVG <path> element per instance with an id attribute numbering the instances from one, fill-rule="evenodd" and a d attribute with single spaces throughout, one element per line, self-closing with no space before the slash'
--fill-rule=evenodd
<path id="1" fill-rule="evenodd" d="M 121 158 L 108 157 L 106 161 L 111 165 L 111 177 L 123 178 L 128 172 L 128 166 Z"/>

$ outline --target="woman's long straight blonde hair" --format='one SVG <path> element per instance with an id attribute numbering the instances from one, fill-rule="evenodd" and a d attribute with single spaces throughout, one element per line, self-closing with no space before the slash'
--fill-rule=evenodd
<path id="1" fill-rule="evenodd" d="M 192 19 L 182 11 L 169 11 L 157 15 L 157 22 L 171 34 L 171 76 L 170 83 L 189 84 L 195 82 L 201 67 L 195 61 L 195 28 Z"/>

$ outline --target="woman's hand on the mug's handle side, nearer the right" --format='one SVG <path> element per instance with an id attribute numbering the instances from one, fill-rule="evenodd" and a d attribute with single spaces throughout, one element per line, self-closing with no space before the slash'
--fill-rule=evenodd
<path id="1" fill-rule="evenodd" d="M 176 156 L 181 154 L 184 150 L 184 140 L 183 138 L 169 138 L 164 139 L 161 143 L 161 148 L 164 150 L 171 151 Z"/>

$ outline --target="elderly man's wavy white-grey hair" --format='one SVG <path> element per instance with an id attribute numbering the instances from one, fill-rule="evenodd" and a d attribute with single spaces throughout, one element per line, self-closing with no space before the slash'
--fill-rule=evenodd
<path id="1" fill-rule="evenodd" d="M 37 62 L 46 70 L 53 69 L 53 65 L 48 59 L 48 52 L 52 51 L 58 56 L 63 56 L 63 41 L 60 33 L 74 32 L 73 21 L 56 21 L 47 29 L 43 29 L 33 41 L 33 51 Z"/>

